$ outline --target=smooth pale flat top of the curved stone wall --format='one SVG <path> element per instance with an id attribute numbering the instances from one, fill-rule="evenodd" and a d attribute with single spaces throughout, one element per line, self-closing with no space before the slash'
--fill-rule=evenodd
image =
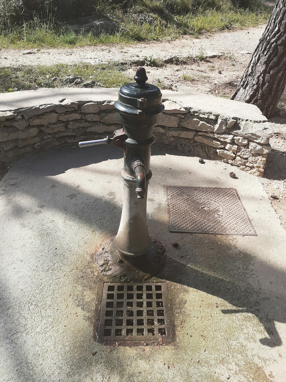
<path id="1" fill-rule="evenodd" d="M 56 104 L 65 98 L 82 102 L 102 102 L 103 100 L 115 101 L 118 98 L 118 90 L 118 88 L 88 89 L 64 87 L 0 93 L 0 112 L 37 105 Z M 163 100 L 177 102 L 181 107 L 196 112 L 223 115 L 227 119 L 235 117 L 238 120 L 244 121 L 267 121 L 267 118 L 262 115 L 259 108 L 255 105 L 214 97 L 213 95 L 163 90 L 162 97 Z"/>

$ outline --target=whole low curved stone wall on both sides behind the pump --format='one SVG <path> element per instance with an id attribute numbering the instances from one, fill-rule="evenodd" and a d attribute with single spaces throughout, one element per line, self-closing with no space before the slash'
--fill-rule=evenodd
<path id="1" fill-rule="evenodd" d="M 92 89 L 93 95 L 94 91 L 96 89 Z M 29 100 L 29 107 L 0 108 L 3 110 L 0 111 L 0 161 L 10 163 L 24 155 L 53 147 L 77 146 L 79 141 L 100 139 L 121 128 L 114 110 L 117 91 L 112 89 L 110 100 L 100 100 L 98 94 L 96 97 L 91 94 L 90 101 L 85 94 L 82 97 L 85 100 L 80 101 L 80 95 L 77 94 L 76 97 L 64 97 L 47 104 L 41 98 L 40 105 L 34 101 L 35 105 L 31 106 Z M 35 92 L 39 94 L 39 91 Z M 224 100 L 223 105 L 217 107 L 219 110 L 215 110 L 214 105 L 212 112 L 206 112 L 202 110 L 206 108 L 198 107 L 198 97 L 194 107 L 192 102 L 187 102 L 187 96 L 183 97 L 183 102 L 177 99 L 173 102 L 170 97 L 164 99 L 163 92 L 165 110 L 154 129 L 155 144 L 205 159 L 220 159 L 253 175 L 263 176 L 267 154 L 271 151 L 269 132 L 263 126 L 266 118 L 259 112 L 256 121 L 249 121 L 240 112 L 230 113 L 228 105 L 246 105 L 238 102 L 229 104 L 235 102 L 230 100 Z M 211 106 L 210 102 L 209 108 Z M 222 114 L 223 107 L 225 112 Z"/>

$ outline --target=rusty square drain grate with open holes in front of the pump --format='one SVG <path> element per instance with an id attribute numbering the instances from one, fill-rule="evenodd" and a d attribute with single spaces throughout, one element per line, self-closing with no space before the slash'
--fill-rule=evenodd
<path id="1" fill-rule="evenodd" d="M 100 342 L 132 346 L 171 339 L 165 283 L 104 283 Z"/>

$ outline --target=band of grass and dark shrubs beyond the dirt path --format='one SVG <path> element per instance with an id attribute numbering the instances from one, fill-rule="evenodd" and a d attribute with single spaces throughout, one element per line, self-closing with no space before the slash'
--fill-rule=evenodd
<path id="1" fill-rule="evenodd" d="M 131 5 L 132 4 L 132 5 Z M 37 11 L 36 11 L 37 10 Z M 112 34 L 76 34 L 72 17 L 112 18 Z M 0 3 L 0 47 L 33 48 L 176 39 L 183 34 L 265 23 L 270 10 L 260 0 L 6 0 Z M 74 21 L 76 23 L 76 21 Z"/>

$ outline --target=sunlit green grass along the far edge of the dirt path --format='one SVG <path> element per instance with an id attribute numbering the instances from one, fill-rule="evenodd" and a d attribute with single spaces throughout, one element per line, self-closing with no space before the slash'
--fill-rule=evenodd
<path id="1" fill-rule="evenodd" d="M 0 47 L 32 49 L 110 43 L 126 44 L 166 38 L 177 39 L 186 33 L 198 37 L 203 32 L 215 32 L 233 27 L 245 28 L 266 23 L 270 16 L 270 10 L 265 6 L 260 5 L 256 8 L 252 6 L 252 10 L 237 8 L 231 6 L 229 0 L 216 0 L 217 4 L 221 4 L 216 9 L 205 9 L 201 6 L 195 11 L 192 11 L 190 4 L 190 9 L 187 6 L 191 2 L 169 0 L 165 3 L 174 3 L 173 7 L 180 8 L 181 6 L 182 10 L 189 11 L 187 13 L 183 11 L 182 13 L 166 13 L 164 2 L 151 0 L 137 1 L 132 8 L 127 7 L 126 11 L 115 5 L 109 6 L 110 10 L 108 6 L 105 6 L 105 13 L 113 11 L 116 18 L 121 20 L 122 29 L 118 33 L 103 33 L 100 36 L 94 36 L 91 33 L 76 34 L 69 27 L 63 26 L 51 17 L 47 21 L 42 21 L 34 16 L 33 20 L 22 23 L 20 26 L 14 24 L 4 26 L 3 23 L 0 23 Z M 172 9 L 172 6 L 169 8 Z M 178 10 L 180 10 L 179 8 Z M 136 17 L 133 17 L 137 12 L 152 17 L 154 23 L 140 23 Z"/>

